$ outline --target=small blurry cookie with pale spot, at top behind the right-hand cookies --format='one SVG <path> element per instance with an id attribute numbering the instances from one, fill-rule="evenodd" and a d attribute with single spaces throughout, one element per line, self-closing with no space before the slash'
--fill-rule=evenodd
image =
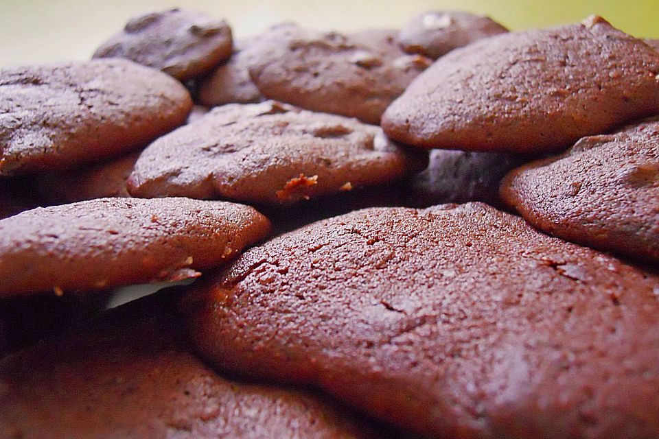
<path id="1" fill-rule="evenodd" d="M 505 34 L 508 29 L 489 18 L 461 11 L 428 11 L 415 16 L 400 31 L 401 47 L 432 59 L 476 40 Z"/>

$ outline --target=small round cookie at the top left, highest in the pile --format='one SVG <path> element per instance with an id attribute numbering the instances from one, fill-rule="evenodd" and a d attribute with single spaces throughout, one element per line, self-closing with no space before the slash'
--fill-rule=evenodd
<path id="1" fill-rule="evenodd" d="M 231 28 L 201 12 L 171 9 L 128 21 L 93 58 L 125 58 L 185 81 L 231 56 Z"/>

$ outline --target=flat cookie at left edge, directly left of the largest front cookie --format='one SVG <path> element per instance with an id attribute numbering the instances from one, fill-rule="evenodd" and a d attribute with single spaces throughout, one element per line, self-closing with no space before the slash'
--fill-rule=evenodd
<path id="1" fill-rule="evenodd" d="M 248 206 L 186 198 L 101 198 L 0 221 L 0 296 L 199 276 L 263 239 Z"/>

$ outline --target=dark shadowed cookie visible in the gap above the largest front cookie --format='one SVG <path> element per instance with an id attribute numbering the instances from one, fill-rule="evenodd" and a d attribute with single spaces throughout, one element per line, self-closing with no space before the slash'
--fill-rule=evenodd
<path id="1" fill-rule="evenodd" d="M 428 167 L 406 185 L 408 201 L 415 206 L 469 201 L 498 205 L 501 178 L 521 164 L 522 158 L 513 154 L 432 150 Z"/>

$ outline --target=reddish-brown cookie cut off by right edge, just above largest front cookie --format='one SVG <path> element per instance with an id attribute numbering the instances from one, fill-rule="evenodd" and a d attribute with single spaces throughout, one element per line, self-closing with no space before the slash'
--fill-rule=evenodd
<path id="1" fill-rule="evenodd" d="M 547 233 L 659 263 L 659 121 L 584 137 L 515 169 L 501 195 Z"/>

